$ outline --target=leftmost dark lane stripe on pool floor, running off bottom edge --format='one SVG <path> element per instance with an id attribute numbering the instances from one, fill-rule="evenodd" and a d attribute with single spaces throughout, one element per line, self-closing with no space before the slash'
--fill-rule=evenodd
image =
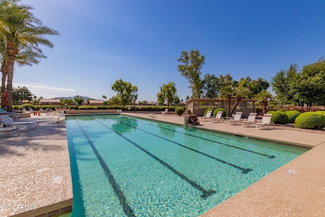
<path id="1" fill-rule="evenodd" d="M 90 147 L 92 148 L 95 156 L 97 157 L 97 159 L 99 160 L 105 174 L 106 174 L 106 177 L 108 178 L 108 181 L 110 182 L 113 190 L 114 190 L 114 193 L 115 195 L 118 197 L 119 199 L 119 202 L 121 204 L 121 206 L 123 207 L 123 211 L 124 213 L 127 215 L 127 216 L 136 216 L 134 214 L 134 211 L 131 207 L 129 207 L 129 205 L 127 204 L 126 202 L 126 198 L 123 194 L 123 192 L 120 190 L 120 187 L 118 186 L 118 184 L 116 183 L 115 181 L 115 178 L 113 176 L 113 174 L 111 173 L 110 169 L 108 168 L 108 166 L 106 165 L 106 163 L 104 162 L 101 154 L 98 152 L 98 150 L 95 148 L 95 146 L 93 145 L 92 141 L 90 140 L 90 138 L 88 137 L 88 135 L 86 134 L 86 132 L 83 130 L 83 128 L 80 126 L 79 122 L 77 121 L 76 117 L 74 117 L 80 130 L 82 131 L 83 135 L 86 137 Z"/>

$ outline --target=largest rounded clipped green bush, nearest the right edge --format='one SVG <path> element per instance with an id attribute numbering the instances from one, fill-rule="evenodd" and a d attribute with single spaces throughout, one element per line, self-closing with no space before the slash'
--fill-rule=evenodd
<path id="1" fill-rule="evenodd" d="M 295 127 L 302 129 L 319 129 L 324 126 L 325 115 L 316 112 L 301 113 L 295 120 Z"/>

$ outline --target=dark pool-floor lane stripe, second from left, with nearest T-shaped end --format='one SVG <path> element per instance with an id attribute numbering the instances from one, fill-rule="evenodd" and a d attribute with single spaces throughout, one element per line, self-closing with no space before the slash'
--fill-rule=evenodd
<path id="1" fill-rule="evenodd" d="M 92 118 L 92 117 L 90 117 Z M 94 119 L 94 118 L 93 118 Z M 96 119 L 94 119 L 96 120 Z M 190 185 L 192 185 L 192 187 L 196 188 L 197 190 L 199 190 L 200 192 L 202 192 L 203 194 L 200 195 L 201 198 L 203 199 L 207 199 L 209 196 L 213 195 L 216 193 L 216 191 L 214 190 L 205 190 L 203 187 L 201 187 L 201 185 L 199 185 L 198 183 L 196 183 L 195 181 L 187 178 L 187 176 L 185 176 L 184 174 L 180 173 L 179 171 L 177 171 L 174 167 L 172 167 L 171 165 L 169 165 L 168 163 L 166 163 L 165 161 L 159 159 L 158 157 L 156 157 L 154 154 L 150 153 L 149 151 L 147 151 L 146 149 L 144 149 L 143 147 L 141 147 L 140 145 L 138 145 L 137 143 L 135 143 L 132 140 L 129 140 L 128 138 L 126 138 L 125 136 L 123 136 L 122 134 L 118 133 L 117 131 L 113 130 L 112 128 L 109 128 L 108 126 L 104 125 L 104 123 L 102 123 L 99 120 L 96 120 L 97 122 L 99 122 L 101 125 L 103 125 L 104 127 L 110 129 L 111 131 L 113 131 L 114 133 L 116 133 L 117 135 L 119 135 L 120 137 L 122 137 L 123 139 L 125 139 L 126 141 L 128 141 L 129 143 L 133 144 L 134 146 L 136 146 L 137 148 L 139 148 L 140 150 L 142 150 L 143 152 L 145 152 L 146 154 L 148 154 L 151 158 L 153 158 L 154 160 L 158 161 L 160 164 L 164 165 L 165 167 L 167 167 L 168 169 L 170 169 L 173 173 L 175 173 L 176 175 L 178 175 L 179 177 L 181 177 L 182 179 L 184 179 L 185 181 L 187 181 Z"/>

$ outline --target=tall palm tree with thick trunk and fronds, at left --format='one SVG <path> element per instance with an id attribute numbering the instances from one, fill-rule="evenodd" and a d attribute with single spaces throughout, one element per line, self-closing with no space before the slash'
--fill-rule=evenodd
<path id="1" fill-rule="evenodd" d="M 30 12 L 31 9 L 33 9 L 31 6 L 9 4 L 5 8 L 7 16 L 2 17 L 0 35 L 6 41 L 6 52 L 8 54 L 7 91 L 9 111 L 12 110 L 12 81 L 15 61 L 17 61 L 16 58 L 20 52 L 19 47 L 42 53 L 39 45 L 54 47 L 44 36 L 59 35 L 56 30 L 44 26 Z"/>

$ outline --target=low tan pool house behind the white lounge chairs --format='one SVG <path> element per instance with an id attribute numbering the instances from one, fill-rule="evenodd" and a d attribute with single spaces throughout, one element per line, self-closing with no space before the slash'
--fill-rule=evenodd
<path id="1" fill-rule="evenodd" d="M 233 108 L 236 99 L 232 99 L 231 108 Z M 205 110 L 223 108 L 227 110 L 227 101 L 223 99 L 189 99 L 187 100 L 187 108 L 191 110 L 194 114 L 198 116 L 203 116 Z M 248 117 L 250 112 L 256 112 L 255 101 L 253 99 L 242 99 L 237 108 L 235 109 L 235 114 L 237 111 L 243 112 L 243 117 Z"/>

